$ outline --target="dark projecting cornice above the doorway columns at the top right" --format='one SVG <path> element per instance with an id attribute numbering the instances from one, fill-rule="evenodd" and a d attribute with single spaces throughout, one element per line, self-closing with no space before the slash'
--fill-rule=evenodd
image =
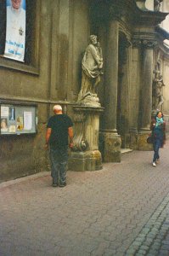
<path id="1" fill-rule="evenodd" d="M 93 0 L 89 1 L 93 22 L 108 20 L 128 20 L 131 26 L 157 26 L 166 19 L 168 13 L 146 9 L 145 0 Z M 141 8 L 139 8 L 139 6 Z"/>

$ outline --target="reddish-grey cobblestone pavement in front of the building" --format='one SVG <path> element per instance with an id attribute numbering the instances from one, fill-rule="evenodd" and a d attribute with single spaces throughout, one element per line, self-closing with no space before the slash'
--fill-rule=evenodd
<path id="1" fill-rule="evenodd" d="M 0 256 L 169 255 L 169 144 L 101 171 L 49 172 L 0 184 Z"/>

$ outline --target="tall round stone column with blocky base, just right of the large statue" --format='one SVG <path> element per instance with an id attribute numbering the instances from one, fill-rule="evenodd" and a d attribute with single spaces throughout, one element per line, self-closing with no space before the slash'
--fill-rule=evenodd
<path id="1" fill-rule="evenodd" d="M 105 162 L 121 161 L 121 137 L 116 131 L 119 22 L 110 20 L 105 67 L 104 130 L 100 133 Z"/>

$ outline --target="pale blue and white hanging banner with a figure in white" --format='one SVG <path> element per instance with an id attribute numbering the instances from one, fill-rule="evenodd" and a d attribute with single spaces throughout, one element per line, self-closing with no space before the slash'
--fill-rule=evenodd
<path id="1" fill-rule="evenodd" d="M 25 0 L 6 0 L 7 26 L 4 56 L 16 61 L 25 57 Z"/>

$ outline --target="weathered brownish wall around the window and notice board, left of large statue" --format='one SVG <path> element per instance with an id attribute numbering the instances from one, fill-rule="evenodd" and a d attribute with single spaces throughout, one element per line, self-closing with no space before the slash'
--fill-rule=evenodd
<path id="1" fill-rule="evenodd" d="M 0 69 L 1 100 L 37 102 L 37 134 L 0 137 L 0 182 L 48 170 L 44 143 L 52 106 L 65 99 L 76 101 L 80 88 L 80 55 L 89 35 L 87 3 L 38 3 L 37 74 L 8 68 L 10 60 L 5 60 L 7 67 Z"/>

